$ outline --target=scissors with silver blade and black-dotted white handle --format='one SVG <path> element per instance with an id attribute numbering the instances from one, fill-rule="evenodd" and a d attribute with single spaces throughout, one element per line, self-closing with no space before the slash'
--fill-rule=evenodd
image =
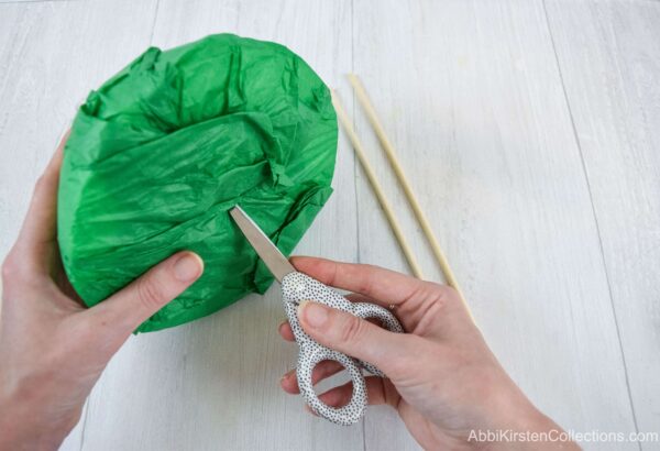
<path id="1" fill-rule="evenodd" d="M 314 341 L 311 337 L 305 333 L 298 322 L 298 305 L 304 300 L 314 300 L 346 311 L 362 319 L 374 318 L 380 320 L 383 327 L 392 332 L 403 332 L 402 324 L 389 310 L 374 304 L 351 302 L 319 280 L 297 272 L 241 207 L 233 207 L 229 213 L 267 268 L 282 285 L 284 309 L 294 331 L 296 342 L 300 346 L 296 374 L 305 402 L 317 415 L 334 424 L 349 426 L 358 422 L 366 409 L 366 384 L 361 369 L 364 367 L 370 373 L 381 377 L 385 377 L 385 374 L 369 362 L 355 360 Z M 328 406 L 319 399 L 314 391 L 311 372 L 319 362 L 324 360 L 341 363 L 349 372 L 353 382 L 351 400 L 343 407 Z"/>

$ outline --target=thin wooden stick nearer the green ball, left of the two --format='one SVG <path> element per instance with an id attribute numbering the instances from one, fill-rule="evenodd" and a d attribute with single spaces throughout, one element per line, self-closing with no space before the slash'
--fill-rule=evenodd
<path id="1" fill-rule="evenodd" d="M 343 125 L 344 131 L 346 132 L 346 134 L 349 135 L 349 139 L 351 140 L 351 143 L 353 144 L 353 150 L 355 151 L 355 155 L 358 155 L 358 160 L 360 160 L 360 164 L 362 164 L 364 174 L 366 174 L 366 178 L 369 179 L 372 188 L 374 189 L 374 193 L 376 195 L 376 198 L 378 199 L 378 202 L 381 204 L 381 207 L 383 207 L 383 211 L 385 212 L 385 216 L 387 217 L 387 221 L 389 221 L 389 226 L 392 227 L 392 231 L 394 232 L 394 235 L 396 237 L 399 245 L 402 246 L 402 251 L 404 251 L 404 255 L 406 256 L 406 260 L 408 261 L 408 265 L 410 266 L 413 274 L 417 278 L 424 278 L 424 275 L 421 274 L 419 264 L 417 263 L 417 260 L 415 258 L 415 255 L 413 254 L 413 250 L 410 249 L 410 245 L 406 241 L 406 237 L 404 235 L 404 232 L 402 231 L 398 220 L 396 219 L 396 216 L 394 215 L 394 210 L 392 209 L 389 201 L 385 197 L 385 193 L 383 191 L 383 188 L 381 187 L 381 184 L 378 183 L 378 179 L 376 178 L 376 174 L 374 173 L 374 169 L 372 168 L 371 164 L 369 163 L 369 160 L 366 158 L 366 155 L 364 154 L 364 147 L 362 145 L 362 142 L 358 138 L 358 134 L 355 133 L 355 130 L 353 129 L 353 124 L 351 123 L 349 116 L 346 114 L 344 108 L 341 105 L 341 101 L 339 100 L 339 97 L 337 96 L 337 92 L 334 92 L 334 91 L 332 91 L 332 105 L 334 105 L 334 110 L 337 111 L 339 121 Z"/>

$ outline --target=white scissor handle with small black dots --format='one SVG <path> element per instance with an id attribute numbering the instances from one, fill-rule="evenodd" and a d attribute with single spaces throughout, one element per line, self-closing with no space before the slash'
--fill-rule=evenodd
<path id="1" fill-rule="evenodd" d="M 298 304 L 302 300 L 314 300 L 363 319 L 374 318 L 392 332 L 403 332 L 400 323 L 389 310 L 374 304 L 351 302 L 332 288 L 301 273 L 294 272 L 284 276 L 282 279 L 282 294 L 294 337 L 300 346 L 296 373 L 298 386 L 305 400 L 317 415 L 334 424 L 348 426 L 358 422 L 366 408 L 366 385 L 361 367 L 377 376 L 384 376 L 384 374 L 371 363 L 358 361 L 314 341 L 311 337 L 302 331 L 298 322 Z M 339 362 L 346 369 L 353 382 L 351 400 L 343 407 L 328 406 L 319 399 L 314 391 L 311 373 L 315 366 L 324 360 Z"/>

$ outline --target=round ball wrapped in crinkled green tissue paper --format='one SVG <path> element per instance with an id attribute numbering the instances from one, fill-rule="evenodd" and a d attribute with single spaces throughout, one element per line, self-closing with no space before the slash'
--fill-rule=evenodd
<path id="1" fill-rule="evenodd" d="M 220 34 L 150 48 L 92 91 L 65 147 L 58 240 L 94 306 L 180 250 L 204 275 L 138 331 L 212 314 L 273 277 L 234 226 L 239 204 L 288 255 L 332 189 L 330 92 L 286 47 Z"/>

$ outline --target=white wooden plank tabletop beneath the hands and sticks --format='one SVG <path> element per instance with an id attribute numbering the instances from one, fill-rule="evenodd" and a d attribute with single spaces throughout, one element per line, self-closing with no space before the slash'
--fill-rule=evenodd
<path id="1" fill-rule="evenodd" d="M 660 2 L 0 0 L 0 255 L 75 106 L 147 46 L 272 40 L 342 95 L 441 280 L 343 75 L 358 73 L 495 353 L 575 431 L 660 430 Z M 345 138 L 297 253 L 407 271 Z M 406 450 L 386 408 L 311 417 L 279 376 L 276 289 L 133 337 L 65 450 Z M 660 443 L 583 443 L 653 450 Z"/>

